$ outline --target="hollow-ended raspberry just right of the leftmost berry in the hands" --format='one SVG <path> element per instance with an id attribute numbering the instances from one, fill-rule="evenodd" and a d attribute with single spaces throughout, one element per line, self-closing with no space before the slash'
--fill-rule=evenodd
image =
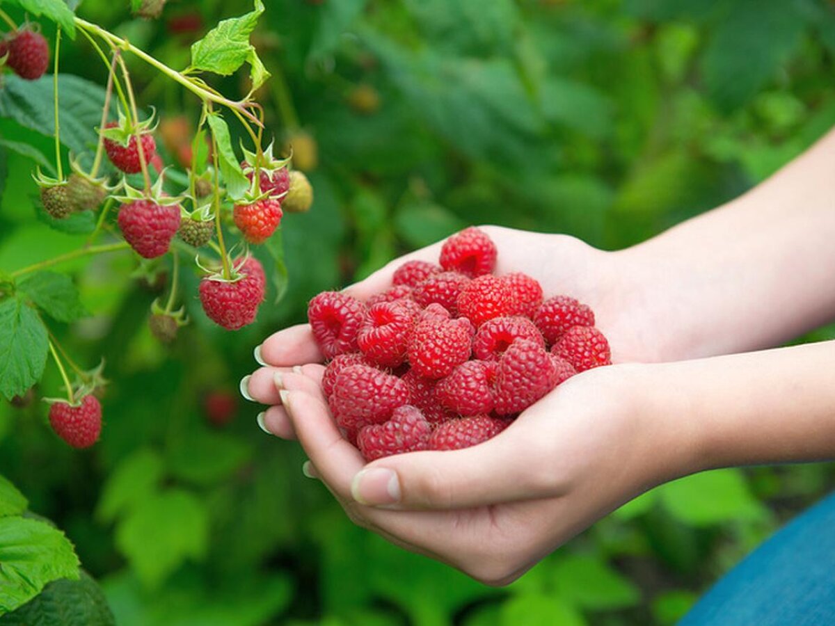
<path id="1" fill-rule="evenodd" d="M 401 302 L 381 302 L 368 309 L 357 333 L 357 346 L 368 361 L 397 367 L 406 360 L 415 311 Z"/>

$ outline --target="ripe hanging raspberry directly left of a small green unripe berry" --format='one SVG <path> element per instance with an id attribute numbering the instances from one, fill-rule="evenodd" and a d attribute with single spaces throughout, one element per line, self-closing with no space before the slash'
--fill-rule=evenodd
<path id="1" fill-rule="evenodd" d="M 151 199 L 122 204 L 119 228 L 140 256 L 155 259 L 168 252 L 171 240 L 180 228 L 180 207 L 164 206 Z"/>

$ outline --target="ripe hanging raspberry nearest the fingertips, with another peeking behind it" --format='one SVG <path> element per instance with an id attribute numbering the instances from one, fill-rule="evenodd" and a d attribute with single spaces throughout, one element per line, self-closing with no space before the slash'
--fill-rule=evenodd
<path id="1" fill-rule="evenodd" d="M 236 280 L 208 276 L 200 281 L 200 304 L 211 321 L 227 331 L 237 331 L 256 320 L 264 301 L 266 276 L 253 258 L 240 265 Z"/>

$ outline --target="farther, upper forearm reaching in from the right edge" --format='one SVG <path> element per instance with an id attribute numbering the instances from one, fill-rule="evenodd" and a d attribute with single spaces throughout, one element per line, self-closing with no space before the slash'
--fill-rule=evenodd
<path id="1" fill-rule="evenodd" d="M 756 189 L 613 255 L 659 360 L 777 346 L 835 316 L 835 130 Z"/>

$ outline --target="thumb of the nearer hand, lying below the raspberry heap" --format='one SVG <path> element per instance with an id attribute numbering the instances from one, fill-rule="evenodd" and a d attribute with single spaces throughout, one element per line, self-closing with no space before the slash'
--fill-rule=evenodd
<path id="1" fill-rule="evenodd" d="M 516 432 L 514 432 L 514 430 Z M 369 463 L 354 476 L 352 497 L 372 507 L 458 509 L 548 497 L 557 491 L 554 463 L 535 452 L 518 422 L 463 450 L 411 452 Z"/>

